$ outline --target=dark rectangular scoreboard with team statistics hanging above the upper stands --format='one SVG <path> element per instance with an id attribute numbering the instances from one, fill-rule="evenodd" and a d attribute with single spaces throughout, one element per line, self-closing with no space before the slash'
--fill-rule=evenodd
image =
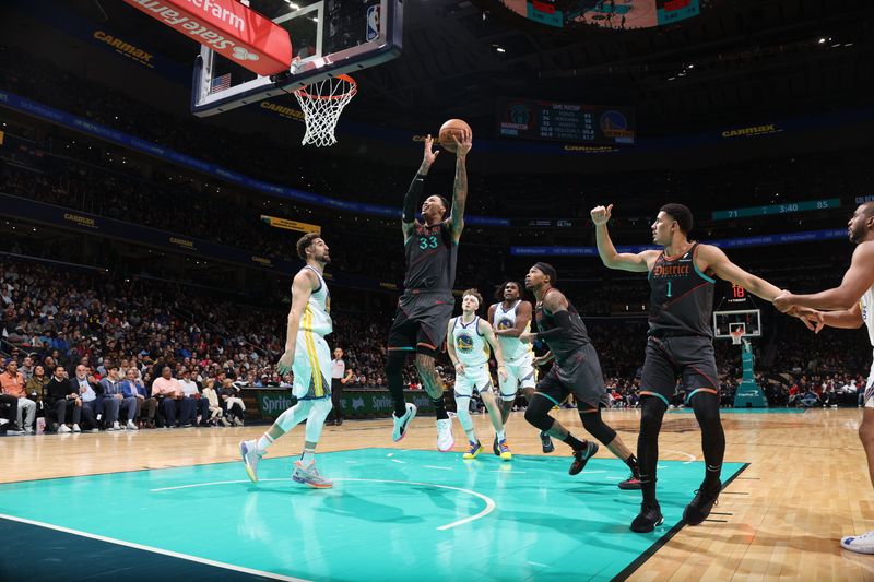
<path id="1" fill-rule="evenodd" d="M 530 99 L 498 99 L 498 135 L 566 143 L 634 145 L 629 107 Z"/>

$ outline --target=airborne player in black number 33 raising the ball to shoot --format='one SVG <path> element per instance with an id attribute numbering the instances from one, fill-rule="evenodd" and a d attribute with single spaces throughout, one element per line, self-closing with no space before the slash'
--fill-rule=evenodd
<path id="1" fill-rule="evenodd" d="M 452 211 L 439 195 L 425 199 L 422 204 L 422 222 L 416 219 L 416 203 L 422 195 L 425 177 L 439 152 L 435 152 L 430 135 L 425 140 L 422 165 L 403 200 L 401 230 L 406 254 L 406 275 L 403 295 L 398 301 L 398 311 L 389 332 L 386 378 L 394 403 L 392 418 L 394 427 L 391 439 L 401 440 L 416 415 L 416 406 L 404 401 L 403 366 L 406 356 L 415 353 L 416 370 L 430 396 L 437 415 L 437 450 L 452 449 L 452 421 L 446 412 L 444 389 L 434 358 L 446 340 L 447 323 L 452 316 L 458 263 L 458 244 L 464 229 L 464 205 L 468 200 L 468 169 L 465 159 L 472 146 L 470 131 L 461 130 L 461 139 L 452 135 L 456 144 L 456 180 L 452 194 Z"/>

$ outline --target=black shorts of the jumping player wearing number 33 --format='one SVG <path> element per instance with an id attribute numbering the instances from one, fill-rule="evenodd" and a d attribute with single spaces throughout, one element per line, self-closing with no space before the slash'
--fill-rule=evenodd
<path id="1" fill-rule="evenodd" d="M 403 294 L 389 331 L 389 349 L 436 357 L 444 348 L 446 326 L 456 299 L 451 293 Z"/>

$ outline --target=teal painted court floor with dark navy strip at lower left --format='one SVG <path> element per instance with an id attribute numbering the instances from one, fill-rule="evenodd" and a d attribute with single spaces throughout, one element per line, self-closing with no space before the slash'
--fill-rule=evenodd
<path id="1" fill-rule="evenodd" d="M 615 459 L 571 477 L 569 456 L 322 453 L 332 489 L 292 482 L 293 461 L 264 459 L 257 485 L 237 462 L 2 485 L 0 531 L 28 542 L 3 560 L 46 539 L 99 563 L 58 563 L 64 580 L 137 580 L 131 565 L 160 575 L 167 560 L 174 577 L 188 561 L 209 580 L 622 579 L 682 527 L 704 475 L 701 462 L 660 461 L 665 523 L 641 535 L 628 531 L 640 492 L 616 487 L 628 470 Z M 745 466 L 725 463 L 724 480 Z M 727 521 L 716 509 L 710 521 Z M 44 574 L 28 580 L 57 579 Z"/>

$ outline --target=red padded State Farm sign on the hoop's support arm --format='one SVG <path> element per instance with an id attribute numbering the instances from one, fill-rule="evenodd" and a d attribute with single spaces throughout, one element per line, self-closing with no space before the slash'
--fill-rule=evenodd
<path id="1" fill-rule="evenodd" d="M 235 0 L 125 0 L 260 75 L 292 64 L 288 33 Z"/>

